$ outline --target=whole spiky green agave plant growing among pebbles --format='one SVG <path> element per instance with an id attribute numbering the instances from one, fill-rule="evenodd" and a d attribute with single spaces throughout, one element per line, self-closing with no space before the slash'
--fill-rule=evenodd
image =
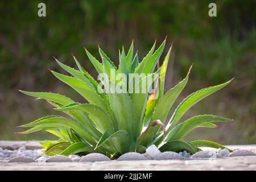
<path id="1" fill-rule="evenodd" d="M 42 98 L 55 107 L 57 111 L 63 111 L 68 117 L 48 115 L 37 119 L 21 127 L 31 127 L 22 134 L 34 133 L 44 130 L 59 137 L 59 140 L 44 140 L 40 142 L 48 155 L 89 154 L 98 152 L 110 158 L 117 158 L 126 152 L 144 152 L 148 146 L 155 144 L 160 151 L 188 151 L 192 154 L 200 151 L 199 147 L 225 148 L 221 144 L 209 140 L 183 141 L 185 135 L 197 127 L 217 127 L 213 122 L 229 122 L 232 119 L 218 117 L 216 115 L 196 115 L 183 122 L 181 117 L 200 100 L 210 94 L 224 88 L 230 81 L 224 84 L 201 89 L 184 98 L 177 105 L 170 120 L 167 116 L 172 105 L 188 82 L 187 76 L 174 88 L 164 93 L 164 80 L 166 77 L 168 60 L 171 48 L 168 50 L 163 64 L 159 66 L 159 58 L 162 55 L 166 40 L 155 50 L 156 42 L 148 54 L 139 61 L 138 54 L 134 56 L 134 44 L 131 43 L 127 55 L 125 50 L 119 51 L 119 67 L 115 67 L 110 58 L 99 47 L 102 63 L 93 57 L 89 51 L 86 54 L 99 74 L 110 72 L 144 73 L 145 77 L 158 73 L 157 89 L 148 93 L 133 93 L 129 89 L 129 81 L 126 93 L 102 92 L 99 87 L 102 80 L 96 81 L 81 66 L 73 56 L 79 70 L 68 67 L 55 59 L 61 68 L 70 75 L 66 76 L 51 71 L 55 77 L 71 86 L 77 93 L 85 98 L 84 103 L 78 103 L 71 98 L 58 93 L 46 92 L 20 92 L 32 97 Z M 136 82 L 141 85 L 144 77 Z M 119 85 L 116 80 L 108 80 Z M 106 84 L 106 81 L 103 82 Z M 106 85 L 104 85 L 106 86 Z M 100 88 L 100 89 L 99 89 Z M 148 89 L 148 88 L 147 88 Z M 147 90 L 148 92 L 148 90 Z M 156 95 L 158 97 L 156 97 Z M 87 102 L 86 102 L 87 101 Z M 166 123 L 166 125 L 165 125 Z M 231 151 L 231 150 L 230 150 Z"/>

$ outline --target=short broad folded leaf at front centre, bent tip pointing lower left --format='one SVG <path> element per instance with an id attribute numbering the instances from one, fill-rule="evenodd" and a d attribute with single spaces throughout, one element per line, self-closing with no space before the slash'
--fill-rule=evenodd
<path id="1" fill-rule="evenodd" d="M 118 130 L 113 134 L 110 134 L 109 131 L 106 131 L 97 143 L 97 148 L 108 141 L 110 141 L 115 150 L 121 154 L 129 151 L 130 136 L 125 130 Z"/>

